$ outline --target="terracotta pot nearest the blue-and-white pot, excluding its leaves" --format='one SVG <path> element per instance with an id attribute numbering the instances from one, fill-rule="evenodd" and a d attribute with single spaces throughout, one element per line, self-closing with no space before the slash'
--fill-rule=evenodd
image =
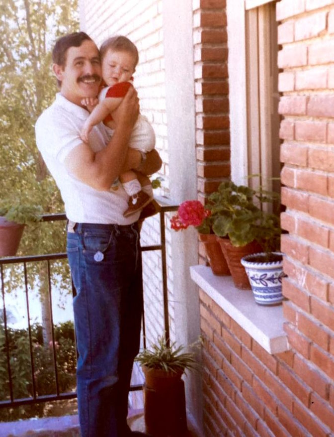
<path id="1" fill-rule="evenodd" d="M 246 270 L 241 264 L 241 258 L 251 253 L 260 252 L 261 246 L 256 241 L 252 241 L 245 246 L 236 247 L 233 246 L 231 241 L 227 238 L 217 237 L 217 240 L 225 255 L 234 285 L 242 290 L 251 289 Z"/>

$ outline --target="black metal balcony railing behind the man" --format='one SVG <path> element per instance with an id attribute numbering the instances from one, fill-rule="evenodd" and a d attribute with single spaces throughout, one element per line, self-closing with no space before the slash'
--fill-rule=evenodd
<path id="1" fill-rule="evenodd" d="M 163 292 L 163 303 L 164 303 L 164 325 L 165 325 L 165 331 L 166 331 L 166 338 L 169 338 L 169 316 L 168 316 L 168 293 L 167 293 L 167 255 L 166 255 L 166 229 L 165 229 L 165 214 L 171 211 L 175 211 L 177 209 L 177 206 L 162 206 L 161 211 L 158 213 L 160 215 L 160 244 L 155 245 L 147 245 L 142 247 L 142 251 L 161 251 L 161 261 L 162 261 L 162 292 Z M 45 215 L 42 217 L 42 221 L 59 221 L 59 220 L 66 220 L 65 214 L 56 214 L 56 215 Z M 5 362 L 6 362 L 6 369 L 1 369 L 0 371 L 3 374 L 6 374 L 6 385 L 8 387 L 7 394 L 3 395 L 0 393 L 0 408 L 12 408 L 20 405 L 29 405 L 29 404 L 36 404 L 36 403 L 45 403 L 45 402 L 51 402 L 51 401 L 59 401 L 59 400 L 68 400 L 73 399 L 77 397 L 76 392 L 67 392 L 62 393 L 59 386 L 59 380 L 58 380 L 58 366 L 57 366 L 57 347 L 56 347 L 56 340 L 55 340 L 55 329 L 54 329 L 54 323 L 53 323 L 53 312 L 52 312 L 52 287 L 51 287 L 51 268 L 50 263 L 54 261 L 60 261 L 67 258 L 66 253 L 52 253 L 52 254 L 43 254 L 43 255 L 34 255 L 34 256 L 14 256 L 14 257 L 3 257 L 0 258 L 0 281 L 1 281 L 1 296 L 2 296 L 2 308 L 3 308 L 3 320 L 1 320 L 0 328 L 2 328 L 3 331 L 3 338 L 2 338 L 2 353 L 5 354 Z M 30 308 L 29 308 L 29 286 L 28 286 L 28 275 L 27 275 L 27 264 L 28 263 L 38 263 L 38 262 L 45 262 L 47 265 L 46 268 L 46 274 L 47 274 L 47 281 L 48 281 L 48 293 L 49 293 L 49 301 L 50 301 L 50 318 L 51 318 L 51 334 L 52 334 L 52 353 L 51 353 L 51 360 L 53 361 L 53 371 L 54 371 L 54 386 L 55 386 L 55 392 L 53 394 L 48 395 L 39 395 L 38 391 L 36 389 L 36 371 L 39 369 L 35 368 L 35 360 L 34 360 L 34 342 L 33 342 L 33 326 L 30 321 Z M 8 323 L 7 323 L 7 314 L 6 314 L 6 305 L 5 305 L 5 272 L 4 272 L 4 266 L 7 265 L 15 265 L 15 266 L 23 266 L 22 271 L 22 281 L 24 282 L 24 293 L 25 293 L 25 301 L 26 301 L 26 314 L 27 314 L 27 323 L 28 323 L 28 341 L 29 341 L 29 352 L 30 355 L 30 378 L 31 378 L 31 384 L 29 387 L 31 395 L 24 398 L 16 398 L 13 390 L 13 378 L 17 378 L 17 375 L 13 375 L 12 372 L 12 363 L 11 363 L 11 350 L 9 347 L 9 330 L 8 330 Z M 22 282 L 22 283 L 23 283 Z M 71 281 L 72 282 L 72 281 Z M 72 284 L 72 294 L 75 295 L 75 289 Z M 143 316 L 144 317 L 144 316 Z M 143 318 L 143 321 L 145 319 Z M 143 323 L 143 344 L 145 347 L 145 323 Z M 1 374 L 0 374 L 1 377 Z M 133 385 L 131 387 L 131 391 L 134 390 L 141 390 L 142 385 Z"/>

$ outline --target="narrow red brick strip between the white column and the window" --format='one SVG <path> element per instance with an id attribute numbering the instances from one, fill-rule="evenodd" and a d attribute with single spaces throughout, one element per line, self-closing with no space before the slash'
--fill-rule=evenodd
<path id="1" fill-rule="evenodd" d="M 230 167 L 226 0 L 193 0 L 198 199 L 228 179 Z M 206 263 L 199 243 L 200 263 Z"/>

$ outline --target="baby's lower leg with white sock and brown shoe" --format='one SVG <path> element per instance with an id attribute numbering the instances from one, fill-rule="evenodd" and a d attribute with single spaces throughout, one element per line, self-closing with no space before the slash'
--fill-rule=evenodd
<path id="1" fill-rule="evenodd" d="M 152 196 L 142 190 L 136 173 L 131 170 L 124 172 L 119 176 L 119 180 L 129 195 L 128 209 L 124 212 L 124 217 L 137 213 L 151 202 Z"/>

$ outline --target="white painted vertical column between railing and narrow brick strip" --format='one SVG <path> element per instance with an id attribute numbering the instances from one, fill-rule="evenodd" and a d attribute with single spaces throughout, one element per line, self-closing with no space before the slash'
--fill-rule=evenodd
<path id="1" fill-rule="evenodd" d="M 197 197 L 192 28 L 192 0 L 163 0 L 169 188 L 173 203 Z M 198 264 L 196 230 L 172 232 L 171 257 L 176 341 L 189 344 L 200 333 L 198 287 L 189 272 L 191 265 Z M 189 373 L 185 384 L 188 413 L 201 429 L 201 378 Z"/>

